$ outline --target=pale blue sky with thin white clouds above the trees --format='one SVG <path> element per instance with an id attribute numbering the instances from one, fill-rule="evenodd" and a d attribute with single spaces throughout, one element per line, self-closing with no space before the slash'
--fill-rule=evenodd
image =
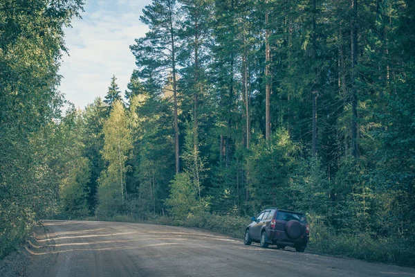
<path id="1" fill-rule="evenodd" d="M 112 75 L 118 87 L 127 89 L 135 57 L 129 50 L 134 39 L 148 31 L 140 21 L 142 9 L 151 0 L 86 0 L 82 19 L 73 19 L 66 28 L 66 46 L 59 74 L 59 90 L 75 107 L 86 105 L 107 94 Z"/>

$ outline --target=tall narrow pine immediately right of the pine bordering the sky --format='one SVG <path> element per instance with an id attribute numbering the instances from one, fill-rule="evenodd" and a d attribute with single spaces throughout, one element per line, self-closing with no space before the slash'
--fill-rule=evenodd
<path id="1" fill-rule="evenodd" d="M 201 107 L 201 104 L 208 102 L 208 62 L 210 48 L 208 45 L 211 42 L 210 33 L 210 16 L 212 15 L 212 1 L 199 0 L 199 1 L 187 1 L 182 0 L 183 4 L 182 13 L 184 15 L 183 23 L 181 24 L 181 52 L 180 52 L 180 64 L 183 66 L 181 75 L 183 76 L 179 80 L 182 96 L 182 107 L 183 109 L 191 110 L 192 113 L 187 116 L 187 120 L 192 121 L 192 153 L 193 153 L 193 166 L 192 168 L 199 168 L 199 147 L 201 144 L 199 136 L 199 120 L 202 116 L 206 116 L 209 112 L 209 107 Z M 185 141 L 186 141 L 186 153 L 189 154 L 187 143 L 188 134 L 190 130 L 186 130 Z M 183 162 L 187 163 L 185 167 L 188 169 L 188 160 Z M 199 176 L 198 186 L 199 184 Z M 199 199 L 200 199 L 199 189 Z"/>

